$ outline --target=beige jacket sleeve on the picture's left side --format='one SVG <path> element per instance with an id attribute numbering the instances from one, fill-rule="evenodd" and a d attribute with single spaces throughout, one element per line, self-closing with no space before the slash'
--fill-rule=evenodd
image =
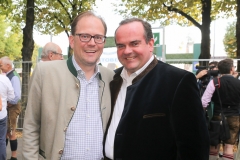
<path id="1" fill-rule="evenodd" d="M 39 65 L 30 78 L 28 102 L 23 124 L 23 149 L 25 160 L 38 159 L 41 124 L 41 70 Z"/>

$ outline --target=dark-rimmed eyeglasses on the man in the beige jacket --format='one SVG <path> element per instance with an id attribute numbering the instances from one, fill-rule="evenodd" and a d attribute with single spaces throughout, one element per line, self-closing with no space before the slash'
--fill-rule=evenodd
<path id="1" fill-rule="evenodd" d="M 89 42 L 93 38 L 94 42 L 98 44 L 105 42 L 105 39 L 107 38 L 106 36 L 103 35 L 92 36 L 90 34 L 75 34 L 75 36 L 78 36 L 80 41 L 82 42 Z"/>

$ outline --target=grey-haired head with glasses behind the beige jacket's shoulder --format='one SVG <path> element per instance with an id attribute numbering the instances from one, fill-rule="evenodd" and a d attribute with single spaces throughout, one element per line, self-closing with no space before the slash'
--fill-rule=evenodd
<path id="1" fill-rule="evenodd" d="M 48 42 L 42 50 L 41 61 L 63 60 L 62 49 L 53 42 Z"/>

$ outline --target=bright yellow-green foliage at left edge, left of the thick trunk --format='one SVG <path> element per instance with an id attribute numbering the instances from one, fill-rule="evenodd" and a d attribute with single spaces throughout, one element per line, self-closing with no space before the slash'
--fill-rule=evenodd
<path id="1" fill-rule="evenodd" d="M 8 56 L 14 61 L 21 59 L 22 34 L 11 31 L 5 16 L 0 16 L 0 57 Z"/>

